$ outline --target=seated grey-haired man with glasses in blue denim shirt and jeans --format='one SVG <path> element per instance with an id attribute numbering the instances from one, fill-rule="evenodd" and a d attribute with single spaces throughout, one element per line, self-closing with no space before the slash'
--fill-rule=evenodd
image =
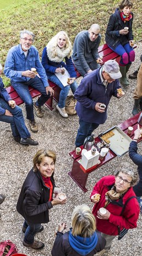
<path id="1" fill-rule="evenodd" d="M 41 106 L 53 95 L 54 91 L 48 84 L 39 52 L 35 46 L 32 46 L 34 37 L 35 35 L 29 30 L 20 31 L 20 43 L 10 48 L 4 74 L 10 78 L 13 88 L 25 102 L 26 118 L 29 119 L 31 131 L 37 132 L 34 109 L 37 117 L 43 117 Z M 37 73 L 32 72 L 31 68 L 35 68 Z M 41 96 L 34 103 L 34 108 L 29 86 L 41 92 Z"/>

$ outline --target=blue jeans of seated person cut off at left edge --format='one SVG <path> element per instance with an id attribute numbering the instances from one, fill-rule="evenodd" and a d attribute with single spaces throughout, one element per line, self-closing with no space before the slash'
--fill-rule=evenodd
<path id="1" fill-rule="evenodd" d="M 0 121 L 10 123 L 12 128 L 13 137 L 20 136 L 23 139 L 29 138 L 30 133 L 25 126 L 23 113 L 20 107 L 15 106 L 14 108 L 10 107 L 8 103 L 0 97 L 0 106 L 5 110 L 9 110 L 12 113 L 13 117 L 0 115 Z"/>

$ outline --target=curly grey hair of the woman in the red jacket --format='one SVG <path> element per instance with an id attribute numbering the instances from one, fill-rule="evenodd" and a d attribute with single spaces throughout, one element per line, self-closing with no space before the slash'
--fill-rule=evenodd
<path id="1" fill-rule="evenodd" d="M 125 175 L 128 175 L 130 178 L 132 178 L 132 182 L 130 183 L 131 187 L 135 186 L 135 184 L 138 183 L 139 181 L 138 171 L 133 170 L 129 162 L 123 162 L 120 168 L 114 171 L 113 175 L 117 176 L 119 172 L 122 172 Z"/>

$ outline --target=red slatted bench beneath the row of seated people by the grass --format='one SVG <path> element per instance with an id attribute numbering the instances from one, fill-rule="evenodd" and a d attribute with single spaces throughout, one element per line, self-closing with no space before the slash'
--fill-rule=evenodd
<path id="1" fill-rule="evenodd" d="M 136 45 L 134 45 L 133 48 L 136 48 Z M 101 65 L 103 65 L 109 59 L 114 59 L 119 63 L 121 57 L 116 52 L 113 52 L 108 47 L 108 45 L 106 43 L 104 45 L 99 46 L 98 51 L 99 51 L 99 55 L 102 57 L 102 61 L 103 61 L 103 63 Z M 81 76 L 80 73 L 78 72 L 77 69 L 75 69 L 75 71 L 77 72 L 77 78 L 79 78 Z M 53 110 L 53 106 L 52 106 L 53 99 L 57 102 L 59 101 L 59 93 L 61 91 L 61 88 L 59 88 L 56 84 L 52 83 L 51 81 L 49 81 L 49 84 L 54 90 L 54 95 L 53 95 L 53 97 L 50 97 L 50 99 L 48 99 L 46 101 L 45 105 L 48 108 L 50 108 L 50 110 Z M 14 88 L 12 86 L 9 86 L 6 89 L 9 93 L 10 97 L 13 100 L 15 100 L 17 105 L 23 104 L 23 100 L 20 99 L 19 95 L 17 94 L 17 92 L 14 90 Z M 35 97 L 41 95 L 41 93 L 39 91 L 37 91 L 34 88 L 31 88 L 30 86 L 29 86 L 29 89 L 30 89 L 30 94 L 31 94 L 32 98 L 35 98 Z"/>

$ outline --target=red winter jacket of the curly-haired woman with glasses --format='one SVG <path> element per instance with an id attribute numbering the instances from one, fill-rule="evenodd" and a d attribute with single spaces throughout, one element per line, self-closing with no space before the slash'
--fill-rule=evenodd
<path id="1" fill-rule="evenodd" d="M 106 176 L 101 178 L 92 190 L 91 196 L 96 193 L 101 194 L 100 201 L 94 205 L 94 208 L 92 210 L 92 214 L 94 214 L 95 217 L 97 216 L 97 211 L 101 207 L 104 207 L 105 194 L 112 188 L 114 183 L 115 176 Z M 106 233 L 107 235 L 117 236 L 118 226 L 120 227 L 120 230 L 122 230 L 123 228 L 135 228 L 140 211 L 139 204 L 136 198 L 132 198 L 128 201 L 121 216 L 121 211 L 125 201 L 133 196 L 135 196 L 135 193 L 133 191 L 133 188 L 130 187 L 122 198 L 118 200 L 112 200 L 111 203 L 108 204 L 106 207 L 106 209 L 111 213 L 110 218 L 108 220 L 102 220 L 96 217 L 97 230 L 102 233 Z"/>

